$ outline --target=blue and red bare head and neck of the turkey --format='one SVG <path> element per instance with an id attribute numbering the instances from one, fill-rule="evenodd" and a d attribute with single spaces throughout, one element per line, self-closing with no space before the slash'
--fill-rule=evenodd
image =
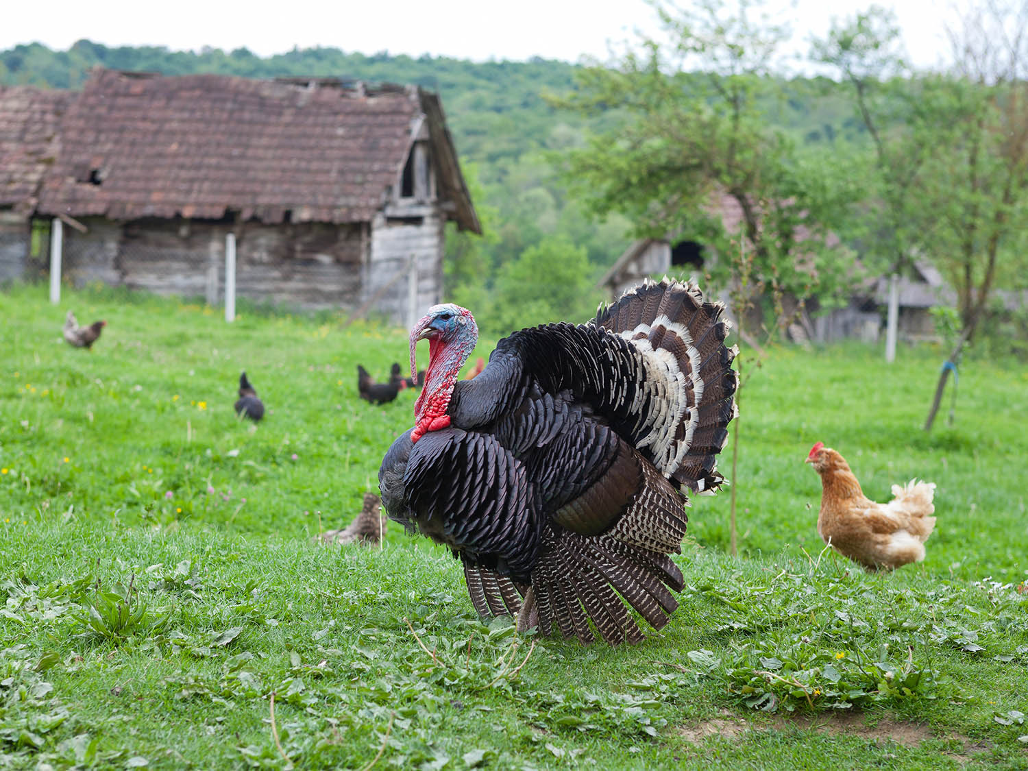
<path id="1" fill-rule="evenodd" d="M 417 382 L 415 353 L 418 340 L 429 341 L 429 367 L 425 388 L 414 403 L 416 442 L 426 431 L 449 426 L 446 407 L 449 405 L 461 367 L 468 361 L 478 342 L 478 325 L 468 308 L 444 302 L 433 305 L 410 330 L 410 376 Z"/>

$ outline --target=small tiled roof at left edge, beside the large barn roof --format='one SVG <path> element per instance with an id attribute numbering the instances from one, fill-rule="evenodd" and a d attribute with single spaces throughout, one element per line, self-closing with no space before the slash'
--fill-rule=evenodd
<path id="1" fill-rule="evenodd" d="M 28 214 L 60 149 L 61 117 L 77 95 L 0 85 L 0 207 Z"/>

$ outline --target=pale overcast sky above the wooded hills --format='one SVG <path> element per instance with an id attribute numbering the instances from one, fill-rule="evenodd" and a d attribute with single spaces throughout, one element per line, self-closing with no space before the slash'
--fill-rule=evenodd
<path id="1" fill-rule="evenodd" d="M 685 0 L 680 0 L 680 5 Z M 810 35 L 821 35 L 833 16 L 848 16 L 872 0 L 767 0 L 774 19 L 793 28 L 795 50 L 806 52 Z M 935 64 L 948 50 L 932 0 L 878 0 L 892 7 L 911 61 Z M 87 38 L 105 45 L 164 45 L 260 56 L 293 46 L 334 46 L 345 51 L 423 53 L 475 61 L 539 56 L 577 62 L 607 59 L 609 44 L 658 29 L 645 0 L 48 0 L 3 3 L 0 48 L 38 41 L 67 48 Z"/>

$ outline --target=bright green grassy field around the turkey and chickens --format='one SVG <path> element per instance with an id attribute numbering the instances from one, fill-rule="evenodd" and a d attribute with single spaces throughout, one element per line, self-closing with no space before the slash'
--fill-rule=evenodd
<path id="1" fill-rule="evenodd" d="M 93 353 L 68 307 L 107 319 Z M 411 393 L 357 397 L 401 330 L 35 287 L 0 318 L 0 767 L 1028 768 L 1023 365 L 967 363 L 925 435 L 939 352 L 773 352 L 741 395 L 740 557 L 728 495 L 696 501 L 682 607 L 613 650 L 482 625 L 395 526 L 311 543 L 411 423 Z M 873 498 L 938 483 L 923 563 L 820 554 L 817 440 Z"/>

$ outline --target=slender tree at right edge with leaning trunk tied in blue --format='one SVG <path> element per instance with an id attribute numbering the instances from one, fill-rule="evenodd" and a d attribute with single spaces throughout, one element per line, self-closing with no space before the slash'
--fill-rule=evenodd
<path id="1" fill-rule="evenodd" d="M 963 324 L 947 360 L 955 366 L 974 338 L 1001 262 L 1025 266 L 1028 226 L 1028 0 L 968 9 L 950 40 L 955 67 L 944 79 L 954 118 L 937 148 L 930 193 L 940 226 L 934 247 L 957 288 Z M 951 367 L 943 368 L 924 424 L 930 431 Z"/>

